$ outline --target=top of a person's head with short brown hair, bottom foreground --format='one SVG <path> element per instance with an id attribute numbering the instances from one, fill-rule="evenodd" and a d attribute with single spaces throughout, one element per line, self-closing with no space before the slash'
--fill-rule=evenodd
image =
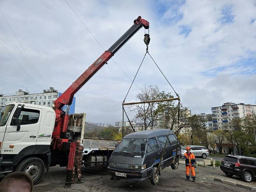
<path id="1" fill-rule="evenodd" d="M 12 172 L 0 182 L 0 192 L 32 192 L 33 181 L 24 172 Z"/>

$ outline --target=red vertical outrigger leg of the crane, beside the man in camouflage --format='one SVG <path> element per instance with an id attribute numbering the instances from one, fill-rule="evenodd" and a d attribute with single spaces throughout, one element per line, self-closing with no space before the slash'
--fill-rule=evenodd
<path id="1" fill-rule="evenodd" d="M 65 182 L 65 188 L 71 187 L 72 171 L 74 167 L 76 153 L 76 143 L 70 143 L 69 154 L 68 154 L 68 166 L 67 166 L 67 177 Z"/>

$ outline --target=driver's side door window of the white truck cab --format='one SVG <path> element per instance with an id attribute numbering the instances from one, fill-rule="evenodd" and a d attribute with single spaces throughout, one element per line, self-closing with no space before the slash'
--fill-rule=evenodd
<path id="1" fill-rule="evenodd" d="M 19 124 L 20 125 L 27 125 L 27 124 L 35 124 L 38 122 L 40 111 L 28 108 L 22 108 L 20 117 L 19 117 Z M 14 120 L 14 118 L 13 118 Z M 12 123 L 13 125 L 13 123 Z"/>

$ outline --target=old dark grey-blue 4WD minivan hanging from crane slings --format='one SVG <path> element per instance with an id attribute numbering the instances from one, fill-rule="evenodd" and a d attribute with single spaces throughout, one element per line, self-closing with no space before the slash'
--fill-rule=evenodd
<path id="1" fill-rule="evenodd" d="M 111 154 L 108 171 L 116 179 L 150 179 L 151 184 L 156 185 L 161 170 L 168 166 L 178 169 L 180 155 L 180 142 L 169 129 L 133 132 L 126 135 Z"/>

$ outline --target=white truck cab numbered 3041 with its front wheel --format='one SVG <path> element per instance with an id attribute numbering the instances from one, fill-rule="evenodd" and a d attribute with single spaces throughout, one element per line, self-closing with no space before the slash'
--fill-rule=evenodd
<path id="1" fill-rule="evenodd" d="M 55 116 L 52 108 L 26 103 L 14 102 L 1 109 L 0 173 L 25 171 L 32 179 L 41 179 L 44 168 L 50 166 Z"/>

